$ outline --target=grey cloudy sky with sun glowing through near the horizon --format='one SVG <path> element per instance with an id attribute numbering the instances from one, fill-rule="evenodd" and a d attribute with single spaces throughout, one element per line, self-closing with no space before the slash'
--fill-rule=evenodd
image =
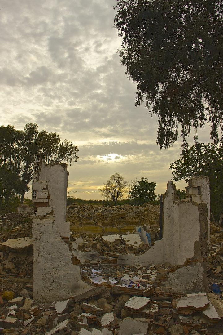
<path id="1" fill-rule="evenodd" d="M 170 163 L 181 151 L 181 141 L 160 151 L 157 119 L 135 107 L 136 85 L 116 54 L 115 4 L 0 1 L 1 124 L 23 129 L 36 123 L 77 144 L 68 186 L 83 199 L 102 199 L 98 188 L 114 172 L 128 182 L 146 177 L 163 193 L 172 179 Z M 210 141 L 208 127 L 199 140 Z"/>

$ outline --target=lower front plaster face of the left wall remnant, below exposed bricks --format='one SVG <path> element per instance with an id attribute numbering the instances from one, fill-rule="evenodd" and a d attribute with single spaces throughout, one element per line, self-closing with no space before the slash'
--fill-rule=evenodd
<path id="1" fill-rule="evenodd" d="M 72 252 L 61 239 L 54 216 L 33 215 L 33 299 L 64 300 L 89 290 L 80 267 L 72 264 Z"/>

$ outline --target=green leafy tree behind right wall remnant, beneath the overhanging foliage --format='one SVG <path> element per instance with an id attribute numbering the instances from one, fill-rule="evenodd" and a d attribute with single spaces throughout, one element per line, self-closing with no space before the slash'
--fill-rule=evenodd
<path id="1" fill-rule="evenodd" d="M 210 207 L 214 216 L 223 213 L 223 142 L 196 143 L 170 164 L 176 182 L 193 176 L 210 179 Z"/>

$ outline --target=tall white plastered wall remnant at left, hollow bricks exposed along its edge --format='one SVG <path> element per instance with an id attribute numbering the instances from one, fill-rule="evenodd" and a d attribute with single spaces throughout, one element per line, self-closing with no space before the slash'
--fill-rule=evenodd
<path id="1" fill-rule="evenodd" d="M 52 302 L 88 290 L 80 267 L 72 264 L 70 224 L 66 222 L 67 164 L 36 157 L 32 197 L 33 298 Z"/>

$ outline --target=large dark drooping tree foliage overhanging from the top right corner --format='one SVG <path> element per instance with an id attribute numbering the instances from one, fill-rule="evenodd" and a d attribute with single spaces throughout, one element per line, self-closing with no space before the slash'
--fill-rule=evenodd
<path id="1" fill-rule="evenodd" d="M 157 144 L 167 148 L 205 122 L 211 138 L 223 131 L 223 0 L 116 0 L 117 50 L 145 100 L 158 116 Z"/>

